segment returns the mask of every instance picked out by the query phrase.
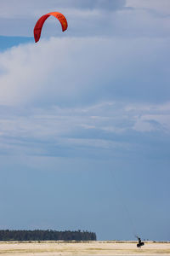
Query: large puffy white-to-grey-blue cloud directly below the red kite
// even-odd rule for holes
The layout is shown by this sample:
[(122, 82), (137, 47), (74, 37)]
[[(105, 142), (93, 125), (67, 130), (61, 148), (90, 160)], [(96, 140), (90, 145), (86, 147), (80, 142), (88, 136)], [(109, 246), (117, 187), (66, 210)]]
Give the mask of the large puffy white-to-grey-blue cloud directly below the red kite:
[(159, 39), (51, 38), (14, 47), (0, 54), (0, 104), (168, 101), (168, 44)]

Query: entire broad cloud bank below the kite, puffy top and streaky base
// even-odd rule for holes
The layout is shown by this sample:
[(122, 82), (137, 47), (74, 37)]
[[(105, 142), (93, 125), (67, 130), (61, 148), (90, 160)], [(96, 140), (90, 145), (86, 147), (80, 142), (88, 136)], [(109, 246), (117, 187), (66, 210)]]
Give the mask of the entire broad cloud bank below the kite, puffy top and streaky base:
[(1, 154), (130, 157), (159, 137), (162, 155), (165, 56), (167, 40), (154, 38), (50, 38), (1, 53)]

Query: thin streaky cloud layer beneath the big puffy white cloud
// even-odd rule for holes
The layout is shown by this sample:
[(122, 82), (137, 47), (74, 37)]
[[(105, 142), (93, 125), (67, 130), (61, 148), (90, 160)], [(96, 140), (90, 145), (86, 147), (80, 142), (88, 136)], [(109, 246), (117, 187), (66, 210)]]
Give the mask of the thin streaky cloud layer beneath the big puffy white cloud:
[[(101, 151), (131, 152), (136, 144), (144, 147), (142, 138), (148, 132), (169, 137), (170, 115), (167, 108), (162, 108), (102, 102), (83, 108), (30, 108), (22, 115), (18, 108), (13, 114), (12, 108), (4, 108), (0, 116), (0, 154), (83, 156)], [(140, 133), (141, 141), (136, 140), (135, 132)]]

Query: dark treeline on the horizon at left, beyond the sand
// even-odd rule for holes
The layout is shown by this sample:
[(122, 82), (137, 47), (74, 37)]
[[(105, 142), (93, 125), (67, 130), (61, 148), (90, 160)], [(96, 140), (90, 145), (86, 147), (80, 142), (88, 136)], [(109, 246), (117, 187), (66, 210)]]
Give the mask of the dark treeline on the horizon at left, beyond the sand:
[(88, 231), (0, 230), (0, 241), (95, 241), (96, 234)]

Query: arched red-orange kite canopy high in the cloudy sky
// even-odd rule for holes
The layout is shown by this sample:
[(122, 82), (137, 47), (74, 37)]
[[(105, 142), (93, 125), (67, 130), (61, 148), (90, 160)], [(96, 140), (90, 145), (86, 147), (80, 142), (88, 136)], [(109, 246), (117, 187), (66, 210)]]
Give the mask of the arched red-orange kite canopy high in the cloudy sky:
[(36, 26), (34, 27), (34, 38), (36, 43), (39, 41), (39, 38), (41, 37), (43, 23), (45, 22), (45, 20), (48, 19), (50, 15), (53, 15), (55, 18), (59, 20), (63, 32), (67, 29), (68, 23), (64, 15), (58, 12), (52, 12), (48, 13), (47, 15), (42, 15), (42, 17), (39, 20), (37, 20)]

